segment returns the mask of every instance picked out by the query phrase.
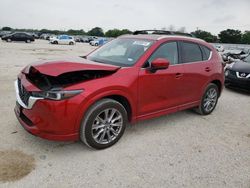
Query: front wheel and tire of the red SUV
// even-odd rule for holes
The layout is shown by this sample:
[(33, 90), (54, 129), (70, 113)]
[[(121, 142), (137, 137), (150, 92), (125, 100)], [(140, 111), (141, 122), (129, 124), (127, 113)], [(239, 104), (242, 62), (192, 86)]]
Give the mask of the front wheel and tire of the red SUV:
[(81, 123), (80, 139), (90, 148), (108, 148), (122, 137), (127, 121), (123, 105), (112, 99), (102, 99), (86, 112)]

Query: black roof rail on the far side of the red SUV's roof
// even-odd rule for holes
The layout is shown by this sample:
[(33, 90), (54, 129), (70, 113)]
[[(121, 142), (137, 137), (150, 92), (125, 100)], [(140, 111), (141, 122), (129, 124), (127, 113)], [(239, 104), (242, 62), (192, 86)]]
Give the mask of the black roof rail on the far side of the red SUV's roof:
[(133, 35), (181, 35), (181, 36), (187, 36), (187, 37), (194, 37), (190, 33), (184, 33), (179, 31), (165, 31), (165, 30), (137, 30), (133, 33)]

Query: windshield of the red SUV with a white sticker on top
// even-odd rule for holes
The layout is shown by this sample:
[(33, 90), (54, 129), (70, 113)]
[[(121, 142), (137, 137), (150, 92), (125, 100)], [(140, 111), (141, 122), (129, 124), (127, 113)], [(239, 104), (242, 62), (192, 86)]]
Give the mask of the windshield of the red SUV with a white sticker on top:
[(87, 59), (116, 66), (133, 66), (153, 44), (150, 40), (115, 39), (87, 56)]

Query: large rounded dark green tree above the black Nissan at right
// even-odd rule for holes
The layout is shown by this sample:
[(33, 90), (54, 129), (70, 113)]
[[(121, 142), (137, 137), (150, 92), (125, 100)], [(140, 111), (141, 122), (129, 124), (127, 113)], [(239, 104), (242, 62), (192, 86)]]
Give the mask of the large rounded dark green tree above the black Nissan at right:
[(239, 44), (241, 43), (242, 33), (240, 30), (227, 29), (221, 31), (218, 36), (223, 43)]

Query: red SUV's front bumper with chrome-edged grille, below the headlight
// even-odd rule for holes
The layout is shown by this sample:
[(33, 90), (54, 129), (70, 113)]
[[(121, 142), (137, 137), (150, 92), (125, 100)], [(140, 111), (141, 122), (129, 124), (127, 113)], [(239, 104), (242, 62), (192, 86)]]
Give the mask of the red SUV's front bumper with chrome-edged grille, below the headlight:
[[(27, 83), (25, 78), (24, 82)], [(75, 141), (79, 139), (76, 131), (78, 106), (76, 98), (53, 101), (44, 98), (23, 96), (24, 86), (15, 81), (16, 117), (29, 133), (48, 140)], [(24, 93), (23, 93), (24, 92)], [(80, 97), (80, 96), (79, 96)]]

